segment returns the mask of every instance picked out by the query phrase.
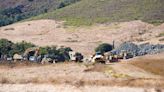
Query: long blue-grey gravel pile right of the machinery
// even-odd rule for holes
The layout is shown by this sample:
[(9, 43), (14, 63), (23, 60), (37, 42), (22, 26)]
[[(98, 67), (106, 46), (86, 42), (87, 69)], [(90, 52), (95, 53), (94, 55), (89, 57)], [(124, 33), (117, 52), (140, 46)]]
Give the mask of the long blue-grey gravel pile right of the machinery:
[(119, 54), (121, 51), (127, 51), (134, 56), (143, 56), (146, 54), (157, 54), (164, 52), (164, 45), (157, 44), (141, 44), (136, 45), (131, 42), (125, 42), (121, 44), (118, 48), (114, 49), (112, 52), (115, 54)]

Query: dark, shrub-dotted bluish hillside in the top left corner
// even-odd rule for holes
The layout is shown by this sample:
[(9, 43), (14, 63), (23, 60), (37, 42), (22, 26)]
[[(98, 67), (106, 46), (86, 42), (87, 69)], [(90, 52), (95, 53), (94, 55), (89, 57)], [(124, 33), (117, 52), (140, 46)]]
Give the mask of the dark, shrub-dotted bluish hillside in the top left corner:
[(63, 8), (79, 0), (0, 0), (0, 26)]

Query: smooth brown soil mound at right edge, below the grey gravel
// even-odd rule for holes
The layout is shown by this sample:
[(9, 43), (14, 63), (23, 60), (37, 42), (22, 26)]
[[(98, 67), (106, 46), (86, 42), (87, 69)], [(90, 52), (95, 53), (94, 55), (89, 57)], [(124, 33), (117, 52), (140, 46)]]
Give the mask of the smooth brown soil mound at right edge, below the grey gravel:
[(164, 54), (161, 55), (148, 55), (145, 57), (139, 57), (131, 62), (132, 65), (144, 69), (147, 72), (151, 72), (156, 75), (164, 77)]

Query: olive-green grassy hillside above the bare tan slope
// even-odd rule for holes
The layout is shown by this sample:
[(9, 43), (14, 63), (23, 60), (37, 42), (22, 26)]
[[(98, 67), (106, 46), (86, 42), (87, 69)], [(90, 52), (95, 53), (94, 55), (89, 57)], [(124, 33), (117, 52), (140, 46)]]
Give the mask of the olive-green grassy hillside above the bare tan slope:
[(82, 0), (32, 19), (66, 20), (68, 25), (90, 25), (116, 21), (164, 22), (164, 0)]

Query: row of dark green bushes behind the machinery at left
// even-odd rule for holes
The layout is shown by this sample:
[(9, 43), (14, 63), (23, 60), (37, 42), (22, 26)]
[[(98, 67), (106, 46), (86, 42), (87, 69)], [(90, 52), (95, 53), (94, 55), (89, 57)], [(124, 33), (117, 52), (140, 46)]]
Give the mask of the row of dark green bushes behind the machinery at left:
[[(20, 43), (13, 43), (7, 39), (0, 39), (0, 56), (4, 57), (13, 57), (14, 54), (23, 55), (26, 49), (36, 47), (36, 45), (32, 43), (27, 43), (22, 41)], [(69, 61), (69, 51), (72, 51), (69, 47), (60, 47), (56, 46), (47, 46), (40, 47), (39, 54), (44, 56), (47, 55), (48, 58), (57, 59), (58, 61)]]

